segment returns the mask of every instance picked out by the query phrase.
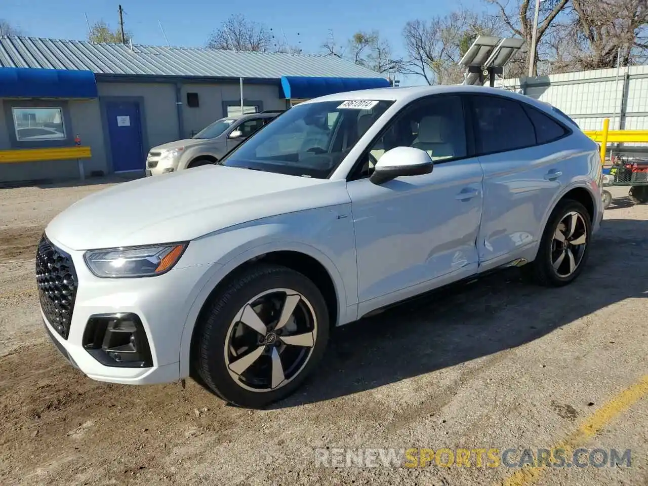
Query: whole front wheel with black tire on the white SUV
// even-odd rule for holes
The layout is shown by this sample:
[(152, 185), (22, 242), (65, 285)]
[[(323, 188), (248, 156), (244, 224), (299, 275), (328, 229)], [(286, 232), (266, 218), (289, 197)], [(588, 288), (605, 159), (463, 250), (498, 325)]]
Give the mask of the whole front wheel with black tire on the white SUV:
[[(294, 311), (278, 329), (288, 299)], [(318, 287), (277, 265), (253, 266), (230, 279), (196, 325), (196, 372), (216, 395), (247, 408), (262, 408), (299, 388), (329, 340), (329, 311)]]

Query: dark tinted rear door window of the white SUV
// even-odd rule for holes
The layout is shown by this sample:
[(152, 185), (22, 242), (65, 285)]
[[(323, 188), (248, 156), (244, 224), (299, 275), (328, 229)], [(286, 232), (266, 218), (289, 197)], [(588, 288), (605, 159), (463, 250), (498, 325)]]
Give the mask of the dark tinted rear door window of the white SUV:
[(480, 154), (506, 152), (536, 145), (535, 128), (522, 105), (503, 97), (472, 97), (477, 148)]

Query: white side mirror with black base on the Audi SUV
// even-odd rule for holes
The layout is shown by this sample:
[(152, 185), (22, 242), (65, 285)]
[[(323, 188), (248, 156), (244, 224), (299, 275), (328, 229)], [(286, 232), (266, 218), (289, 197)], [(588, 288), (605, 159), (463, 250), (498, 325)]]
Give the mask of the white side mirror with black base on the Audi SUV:
[(396, 147), (382, 154), (369, 180), (383, 184), (400, 176), (430, 174), (433, 168), (434, 162), (428, 152), (413, 147)]

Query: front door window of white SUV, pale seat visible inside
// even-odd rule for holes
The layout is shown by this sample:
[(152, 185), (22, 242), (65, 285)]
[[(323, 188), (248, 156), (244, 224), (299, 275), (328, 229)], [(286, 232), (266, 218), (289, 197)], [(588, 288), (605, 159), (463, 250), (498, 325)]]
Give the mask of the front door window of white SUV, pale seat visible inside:
[[(362, 117), (358, 121), (358, 127)], [(385, 152), (395, 147), (420, 148), (434, 161), (467, 155), (463, 103), (458, 96), (435, 96), (414, 102), (397, 115), (365, 156), (361, 177), (368, 177)]]

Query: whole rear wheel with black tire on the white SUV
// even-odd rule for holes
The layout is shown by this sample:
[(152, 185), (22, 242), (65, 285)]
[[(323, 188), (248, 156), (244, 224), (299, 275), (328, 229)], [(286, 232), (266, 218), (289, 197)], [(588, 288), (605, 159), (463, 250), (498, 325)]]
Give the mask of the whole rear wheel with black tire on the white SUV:
[[(573, 237), (567, 237), (566, 240), (572, 238), (573, 241), (578, 242), (584, 235), (584, 244), (581, 245), (562, 243), (555, 239), (559, 225), (566, 233), (569, 233), (569, 228), (565, 226), (564, 220), (570, 216), (572, 220), (573, 214), (577, 214), (577, 225), (573, 232)], [(565, 235), (565, 233), (561, 234)], [(590, 214), (585, 207), (571, 199), (565, 199), (559, 202), (553, 209), (551, 216), (547, 222), (538, 254), (533, 262), (522, 267), (523, 272), (531, 280), (543, 286), (548, 287), (561, 287), (563, 285), (572, 283), (583, 271), (586, 264), (587, 257), (590, 253), (590, 240), (592, 237), (592, 221)], [(564, 245), (569, 251), (561, 250)], [(582, 253), (581, 253), (582, 251)], [(572, 258), (569, 255), (572, 255)], [(562, 259), (561, 256), (563, 255)], [(575, 262), (575, 268), (571, 271), (570, 262)], [(555, 268), (555, 263), (559, 262), (558, 269)]]

